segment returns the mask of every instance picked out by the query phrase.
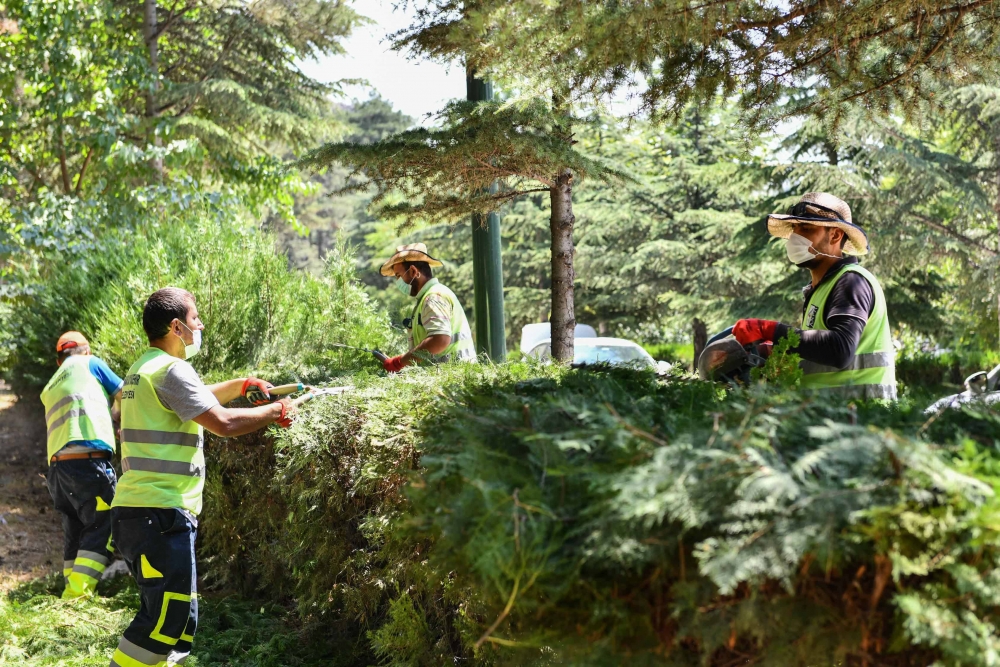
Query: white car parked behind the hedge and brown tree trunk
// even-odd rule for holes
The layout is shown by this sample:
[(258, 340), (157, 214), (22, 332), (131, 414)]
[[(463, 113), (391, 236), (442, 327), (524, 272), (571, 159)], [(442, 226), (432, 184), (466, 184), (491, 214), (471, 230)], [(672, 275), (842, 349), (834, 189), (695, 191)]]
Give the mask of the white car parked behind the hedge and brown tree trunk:
[[(552, 338), (548, 322), (529, 324), (521, 330), (521, 352), (535, 359), (552, 358)], [(544, 336), (544, 337), (542, 337)], [(576, 325), (573, 333), (573, 365), (606, 363), (614, 366), (637, 365), (657, 372), (670, 370), (670, 364), (656, 361), (641, 346), (624, 338), (598, 336), (586, 324)]]

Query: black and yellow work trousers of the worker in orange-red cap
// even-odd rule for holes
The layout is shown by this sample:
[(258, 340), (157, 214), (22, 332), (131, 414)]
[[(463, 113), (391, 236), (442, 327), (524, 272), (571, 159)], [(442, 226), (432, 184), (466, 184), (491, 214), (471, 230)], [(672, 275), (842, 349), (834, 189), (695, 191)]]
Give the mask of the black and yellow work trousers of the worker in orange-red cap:
[(64, 598), (92, 595), (111, 563), (111, 501), (118, 479), (108, 459), (55, 461), (45, 475), (63, 524)]

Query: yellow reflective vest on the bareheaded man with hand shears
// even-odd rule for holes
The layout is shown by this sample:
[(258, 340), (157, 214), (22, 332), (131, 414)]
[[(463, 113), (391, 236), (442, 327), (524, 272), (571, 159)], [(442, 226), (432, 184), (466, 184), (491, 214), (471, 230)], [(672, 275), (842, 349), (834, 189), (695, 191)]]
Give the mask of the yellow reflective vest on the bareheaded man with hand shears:
[(204, 434), (160, 403), (155, 387), (180, 359), (150, 348), (132, 364), (122, 391), (122, 476), (112, 507), (201, 512)]

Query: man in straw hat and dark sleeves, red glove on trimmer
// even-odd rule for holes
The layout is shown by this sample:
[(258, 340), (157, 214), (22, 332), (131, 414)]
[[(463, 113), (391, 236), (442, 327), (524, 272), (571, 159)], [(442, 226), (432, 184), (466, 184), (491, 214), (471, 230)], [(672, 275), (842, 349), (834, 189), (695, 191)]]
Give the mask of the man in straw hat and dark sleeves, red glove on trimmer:
[[(802, 386), (857, 398), (896, 398), (892, 334), (882, 286), (857, 257), (868, 236), (851, 208), (826, 192), (809, 192), (787, 214), (768, 216), (772, 236), (786, 240), (793, 264), (809, 269), (804, 288)], [(733, 335), (743, 345), (780, 340), (792, 327), (771, 320), (740, 320)]]

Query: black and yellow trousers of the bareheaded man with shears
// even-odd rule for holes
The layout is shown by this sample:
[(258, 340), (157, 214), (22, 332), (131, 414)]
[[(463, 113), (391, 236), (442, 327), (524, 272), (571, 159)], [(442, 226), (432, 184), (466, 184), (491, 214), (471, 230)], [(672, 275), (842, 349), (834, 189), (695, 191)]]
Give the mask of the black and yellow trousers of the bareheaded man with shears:
[(182, 663), (198, 626), (196, 524), (179, 510), (115, 507), (115, 548), (139, 584), (139, 613), (118, 641), (111, 667)]

